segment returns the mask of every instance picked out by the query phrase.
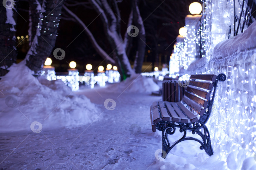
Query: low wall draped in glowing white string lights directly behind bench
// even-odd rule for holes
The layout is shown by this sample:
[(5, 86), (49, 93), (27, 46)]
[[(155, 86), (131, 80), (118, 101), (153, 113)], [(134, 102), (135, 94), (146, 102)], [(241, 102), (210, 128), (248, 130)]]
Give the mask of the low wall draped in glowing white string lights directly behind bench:
[[(250, 27), (248, 29), (253, 25)], [(249, 38), (252, 35), (249, 32), (256, 33), (248, 31), (241, 36), (251, 41), (255, 37)], [(241, 40), (240, 37), (238, 39)], [(227, 162), (229, 169), (253, 169), (250, 167), (256, 166), (256, 48), (250, 48), (252, 46), (247, 43), (250, 50), (244, 50), (241, 44), (233, 44), (239, 49), (229, 55), (234, 49), (224, 51), (226, 45), (232, 46), (225, 43), (228, 41), (239, 42), (237, 39), (222, 42), (215, 48), (222, 51), (214, 51), (216, 56), (198, 68), (196, 73), (226, 74), (227, 80), (218, 83), (213, 110), (207, 122), (213, 149), (220, 155), (219, 159)]]

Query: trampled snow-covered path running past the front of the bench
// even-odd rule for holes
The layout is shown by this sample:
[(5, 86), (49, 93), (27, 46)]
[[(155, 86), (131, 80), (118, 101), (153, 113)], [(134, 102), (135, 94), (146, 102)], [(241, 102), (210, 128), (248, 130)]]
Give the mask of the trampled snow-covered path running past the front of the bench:
[[(1, 133), (0, 167), (152, 169), (154, 153), (162, 148), (162, 142), (160, 136), (155, 138), (152, 133), (149, 106), (161, 97), (143, 93), (120, 95), (103, 89), (80, 93), (102, 110), (94, 122), (72, 129), (43, 129), (41, 133)], [(104, 107), (109, 98), (116, 102), (114, 110)]]

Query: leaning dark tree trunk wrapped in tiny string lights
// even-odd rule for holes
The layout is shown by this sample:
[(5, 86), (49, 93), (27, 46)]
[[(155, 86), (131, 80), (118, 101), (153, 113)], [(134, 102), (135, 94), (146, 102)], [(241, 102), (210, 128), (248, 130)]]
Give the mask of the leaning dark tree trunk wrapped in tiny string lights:
[[(33, 27), (37, 27), (37, 32), (26, 56), (26, 65), (35, 74), (41, 70), (55, 45), (63, 2), (61, 0), (46, 0), (40, 4), (38, 0), (33, 1), (37, 4), (35, 15), (40, 15), (40, 20), (31, 20), (32, 30)], [(33, 6), (34, 4), (30, 5), (31, 12), (34, 10), (32, 9)]]

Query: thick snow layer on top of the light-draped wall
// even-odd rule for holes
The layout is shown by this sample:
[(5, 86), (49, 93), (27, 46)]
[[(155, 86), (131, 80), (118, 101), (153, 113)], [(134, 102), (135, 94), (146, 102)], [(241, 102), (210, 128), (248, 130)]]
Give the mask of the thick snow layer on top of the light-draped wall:
[(253, 22), (242, 34), (218, 43), (213, 49), (212, 56), (226, 57), (254, 47), (256, 47), (256, 22)]

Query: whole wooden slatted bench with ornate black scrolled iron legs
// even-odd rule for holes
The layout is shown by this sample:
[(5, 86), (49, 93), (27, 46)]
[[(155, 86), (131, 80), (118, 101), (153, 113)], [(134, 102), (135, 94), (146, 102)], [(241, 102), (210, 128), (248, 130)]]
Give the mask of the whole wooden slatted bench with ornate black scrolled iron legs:
[[(180, 102), (157, 101), (150, 107), (150, 119), (153, 132), (162, 131), (162, 154), (165, 158), (170, 150), (178, 143), (184, 140), (195, 140), (201, 144), (200, 149), (211, 156), (213, 149), (211, 147), (210, 133), (206, 127), (214, 101), (218, 81), (226, 80), (225, 74), (218, 76), (211, 75), (191, 75), (189, 86), (185, 90), (185, 95)], [(184, 135), (172, 145), (169, 142), (168, 134), (172, 135), (175, 130), (180, 128)], [(201, 131), (204, 131), (202, 133)], [(186, 131), (197, 133), (203, 141), (186, 137)]]

